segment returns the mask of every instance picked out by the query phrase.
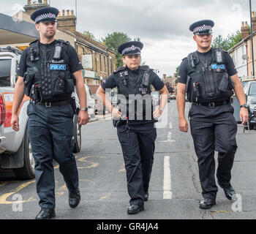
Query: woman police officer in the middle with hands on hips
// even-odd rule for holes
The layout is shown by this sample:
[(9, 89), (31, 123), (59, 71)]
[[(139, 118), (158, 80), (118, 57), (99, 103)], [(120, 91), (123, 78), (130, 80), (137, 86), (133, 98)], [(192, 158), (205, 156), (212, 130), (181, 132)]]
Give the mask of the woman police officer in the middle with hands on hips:
[[(128, 214), (137, 214), (148, 200), (148, 184), (154, 161), (154, 141), (157, 131), (154, 118), (158, 118), (167, 102), (165, 84), (148, 66), (140, 66), (141, 42), (125, 42), (118, 47), (125, 66), (119, 67), (99, 86), (97, 94), (113, 114), (118, 140), (127, 170), (127, 188), (131, 197)], [(151, 85), (159, 91), (159, 109), (152, 108)], [(118, 87), (118, 106), (113, 107), (105, 98), (107, 89)]]

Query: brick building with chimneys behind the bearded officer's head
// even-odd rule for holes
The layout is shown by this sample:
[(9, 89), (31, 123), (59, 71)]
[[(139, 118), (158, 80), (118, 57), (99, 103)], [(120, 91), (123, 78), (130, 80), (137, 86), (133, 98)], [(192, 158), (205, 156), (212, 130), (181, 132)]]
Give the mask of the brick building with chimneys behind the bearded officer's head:
[[(48, 0), (27, 1), (24, 11), (18, 12), (14, 17), (29, 21), (30, 15), (42, 7), (50, 7)], [(83, 64), (83, 78), (85, 83), (100, 84), (116, 69), (116, 53), (100, 42), (86, 37), (76, 31), (76, 16), (74, 10), (59, 10), (56, 39), (64, 39), (78, 52), (79, 59)]]

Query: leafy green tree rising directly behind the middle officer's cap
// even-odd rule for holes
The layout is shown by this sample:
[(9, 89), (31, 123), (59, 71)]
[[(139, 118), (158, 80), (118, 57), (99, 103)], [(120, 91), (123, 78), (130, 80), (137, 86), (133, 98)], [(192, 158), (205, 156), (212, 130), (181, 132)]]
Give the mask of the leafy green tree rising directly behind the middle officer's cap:
[[(139, 38), (137, 38), (139, 39)], [(131, 38), (125, 34), (124, 32), (113, 32), (112, 34), (108, 34), (105, 38), (102, 38), (102, 42), (111, 50), (115, 51), (116, 54), (116, 66), (121, 67), (123, 65), (123, 61), (121, 58), (121, 54), (118, 53), (118, 46), (124, 42), (129, 42)]]

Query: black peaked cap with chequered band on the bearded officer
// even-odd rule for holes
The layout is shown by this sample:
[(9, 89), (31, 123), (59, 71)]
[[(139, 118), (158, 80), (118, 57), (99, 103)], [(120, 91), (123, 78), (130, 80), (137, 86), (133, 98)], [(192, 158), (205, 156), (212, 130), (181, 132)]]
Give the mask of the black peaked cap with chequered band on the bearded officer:
[(57, 8), (43, 7), (31, 14), (31, 20), (33, 20), (34, 23), (57, 21), (56, 18), (58, 15), (59, 10)]

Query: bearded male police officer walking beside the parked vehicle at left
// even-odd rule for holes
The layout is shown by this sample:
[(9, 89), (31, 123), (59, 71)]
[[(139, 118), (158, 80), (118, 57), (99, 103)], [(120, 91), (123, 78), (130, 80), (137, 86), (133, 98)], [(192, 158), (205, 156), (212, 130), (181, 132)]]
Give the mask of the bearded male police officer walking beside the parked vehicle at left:
[(83, 67), (78, 55), (69, 42), (54, 39), (58, 14), (56, 8), (45, 7), (31, 15), (40, 39), (31, 42), (20, 58), (12, 107), (12, 128), (18, 131), (17, 113), (25, 89), (25, 94), (31, 97), (27, 110), (28, 128), (42, 208), (36, 219), (55, 216), (53, 159), (59, 162), (59, 170), (67, 184), (69, 206), (75, 208), (80, 202), (78, 168), (72, 154), (75, 103), (71, 95), (75, 84), (81, 107), (79, 124), (89, 121)]

